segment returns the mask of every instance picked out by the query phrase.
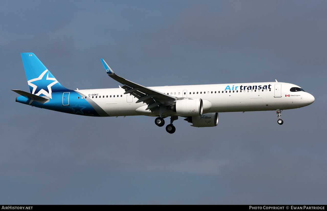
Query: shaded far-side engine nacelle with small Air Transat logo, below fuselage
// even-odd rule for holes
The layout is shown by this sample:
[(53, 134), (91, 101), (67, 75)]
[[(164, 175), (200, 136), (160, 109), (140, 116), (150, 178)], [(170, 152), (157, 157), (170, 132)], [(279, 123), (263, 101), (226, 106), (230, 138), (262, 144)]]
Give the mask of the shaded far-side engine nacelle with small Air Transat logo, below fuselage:
[(193, 127), (215, 127), (218, 125), (218, 113), (202, 114), (201, 116), (188, 116), (184, 119), (193, 123)]

